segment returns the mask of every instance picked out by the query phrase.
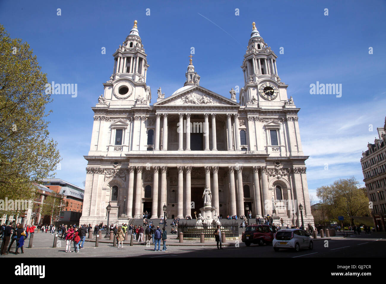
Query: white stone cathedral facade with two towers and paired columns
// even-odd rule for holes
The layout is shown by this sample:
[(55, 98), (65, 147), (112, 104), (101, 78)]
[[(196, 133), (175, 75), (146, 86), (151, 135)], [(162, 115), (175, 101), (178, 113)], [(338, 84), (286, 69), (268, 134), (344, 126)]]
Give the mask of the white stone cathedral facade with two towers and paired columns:
[[(242, 63), (244, 87), (230, 99), (200, 86), (190, 63), (183, 87), (152, 105), (137, 22), (113, 54), (113, 74), (94, 111), (81, 223), (198, 215), (208, 185), (217, 214), (269, 214), (313, 224), (298, 112), (277, 56), (255, 24)], [(241, 74), (241, 72), (240, 72)], [(182, 85), (182, 84), (181, 84)], [(121, 222), (122, 221), (122, 222)]]

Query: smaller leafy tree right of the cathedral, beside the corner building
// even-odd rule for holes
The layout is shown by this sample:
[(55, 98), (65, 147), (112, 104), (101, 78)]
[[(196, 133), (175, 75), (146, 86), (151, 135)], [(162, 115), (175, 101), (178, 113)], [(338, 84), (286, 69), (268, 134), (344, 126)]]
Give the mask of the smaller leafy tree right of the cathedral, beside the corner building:
[[(318, 187), (316, 192), (322, 201), (322, 210), (330, 221), (338, 221), (338, 216), (349, 219), (349, 216), (371, 214), (366, 188), (359, 188), (355, 177), (335, 180), (331, 185)], [(354, 225), (354, 220), (351, 220), (351, 223)]]

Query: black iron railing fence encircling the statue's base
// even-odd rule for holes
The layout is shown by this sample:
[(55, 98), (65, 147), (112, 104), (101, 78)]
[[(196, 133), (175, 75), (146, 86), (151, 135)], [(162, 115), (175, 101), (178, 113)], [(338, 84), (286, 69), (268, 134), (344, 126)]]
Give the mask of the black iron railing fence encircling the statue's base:
[[(200, 238), (201, 233), (204, 233), (205, 238), (214, 238), (216, 229), (216, 225), (178, 224), (178, 233), (182, 232), (184, 238)], [(237, 223), (221, 224), (220, 230), (221, 234), (225, 234), (227, 238), (239, 237), (239, 225)]]

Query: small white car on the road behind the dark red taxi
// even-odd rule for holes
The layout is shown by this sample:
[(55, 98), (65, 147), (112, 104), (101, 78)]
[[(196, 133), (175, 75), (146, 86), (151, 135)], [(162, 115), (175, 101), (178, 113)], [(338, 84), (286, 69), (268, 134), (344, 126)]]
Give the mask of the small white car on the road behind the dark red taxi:
[(279, 248), (291, 248), (298, 252), (301, 248), (313, 249), (313, 242), (305, 231), (300, 229), (283, 229), (276, 232), (272, 241), (275, 252)]

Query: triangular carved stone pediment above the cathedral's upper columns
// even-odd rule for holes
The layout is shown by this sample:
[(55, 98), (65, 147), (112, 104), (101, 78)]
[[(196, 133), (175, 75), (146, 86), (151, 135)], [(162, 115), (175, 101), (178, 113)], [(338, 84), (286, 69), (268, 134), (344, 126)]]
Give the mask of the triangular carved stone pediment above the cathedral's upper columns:
[(157, 105), (231, 105), (239, 106), (233, 100), (222, 95), (216, 94), (201, 86), (191, 86), (181, 88), (181, 91), (175, 92), (168, 98), (154, 103)]

